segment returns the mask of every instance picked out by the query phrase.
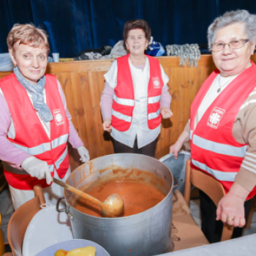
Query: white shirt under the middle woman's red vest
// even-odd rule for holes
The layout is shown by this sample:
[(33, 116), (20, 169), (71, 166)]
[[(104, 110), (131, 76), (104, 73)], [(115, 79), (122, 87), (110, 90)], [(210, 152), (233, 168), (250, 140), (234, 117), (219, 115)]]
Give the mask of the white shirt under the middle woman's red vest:
[[(129, 68), (132, 73), (132, 83), (135, 90), (135, 108), (132, 113), (132, 123), (129, 129), (125, 132), (120, 132), (112, 127), (111, 136), (119, 142), (133, 148), (135, 138), (137, 136), (138, 148), (148, 145), (157, 138), (161, 130), (161, 124), (156, 129), (148, 128), (148, 81), (150, 78), (149, 61), (146, 58), (146, 64), (143, 69), (136, 68), (129, 60)], [(160, 65), (162, 80), (166, 86), (169, 78)], [(117, 61), (113, 61), (107, 74), (104, 75), (105, 80), (112, 89), (117, 85)]]

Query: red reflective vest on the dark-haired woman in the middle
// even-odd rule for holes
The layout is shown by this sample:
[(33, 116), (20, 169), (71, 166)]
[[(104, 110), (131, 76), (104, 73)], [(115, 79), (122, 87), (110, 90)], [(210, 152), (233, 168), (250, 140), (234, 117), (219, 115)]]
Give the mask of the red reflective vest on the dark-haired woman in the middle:
[[(159, 101), (161, 99), (162, 80), (159, 61), (147, 56), (150, 65), (148, 82), (148, 128), (155, 129), (161, 124)], [(125, 132), (132, 124), (132, 112), (135, 107), (135, 91), (132, 82), (132, 73), (129, 68), (129, 54), (117, 60), (117, 85), (113, 95), (112, 126), (120, 132)]]

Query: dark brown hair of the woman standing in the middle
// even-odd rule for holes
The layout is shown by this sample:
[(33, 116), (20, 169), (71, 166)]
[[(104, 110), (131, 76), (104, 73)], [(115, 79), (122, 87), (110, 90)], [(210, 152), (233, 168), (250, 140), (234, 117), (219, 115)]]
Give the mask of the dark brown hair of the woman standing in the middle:
[(127, 23), (124, 24), (124, 32), (123, 32), (123, 38), (124, 38), (124, 48), (127, 49), (125, 42), (127, 42), (127, 37), (129, 34), (129, 31), (132, 29), (142, 29), (145, 33), (145, 37), (150, 42), (151, 37), (151, 28), (148, 26), (148, 23), (146, 20), (128, 20)]

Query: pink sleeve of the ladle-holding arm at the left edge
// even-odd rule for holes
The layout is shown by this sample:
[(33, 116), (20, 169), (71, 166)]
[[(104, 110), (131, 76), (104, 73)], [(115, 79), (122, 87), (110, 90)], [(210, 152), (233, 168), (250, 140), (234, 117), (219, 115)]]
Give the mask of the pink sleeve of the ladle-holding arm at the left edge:
[(10, 140), (7, 139), (11, 118), (7, 102), (2, 94), (0, 94), (0, 109), (0, 159), (7, 162), (12, 167), (21, 170), (21, 163), (31, 155), (19, 148), (16, 148), (14, 145), (12, 145)]

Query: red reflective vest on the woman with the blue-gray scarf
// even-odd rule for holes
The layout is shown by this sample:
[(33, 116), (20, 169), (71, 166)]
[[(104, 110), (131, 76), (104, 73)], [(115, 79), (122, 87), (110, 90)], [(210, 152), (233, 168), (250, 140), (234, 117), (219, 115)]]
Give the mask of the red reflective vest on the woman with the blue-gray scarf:
[[(52, 176), (55, 169), (59, 178), (63, 178), (69, 167), (69, 124), (55, 76), (45, 75), (45, 78), (46, 104), (53, 114), (53, 120), (50, 121), (50, 139), (39, 121), (26, 89), (20, 85), (15, 74), (0, 80), (0, 88), (15, 127), (15, 138), (7, 139), (17, 148), (47, 162)], [(45, 179), (33, 178), (25, 170), (15, 169), (7, 163), (4, 163), (4, 175), (10, 186), (15, 189), (29, 190), (37, 184), (48, 187)]]

